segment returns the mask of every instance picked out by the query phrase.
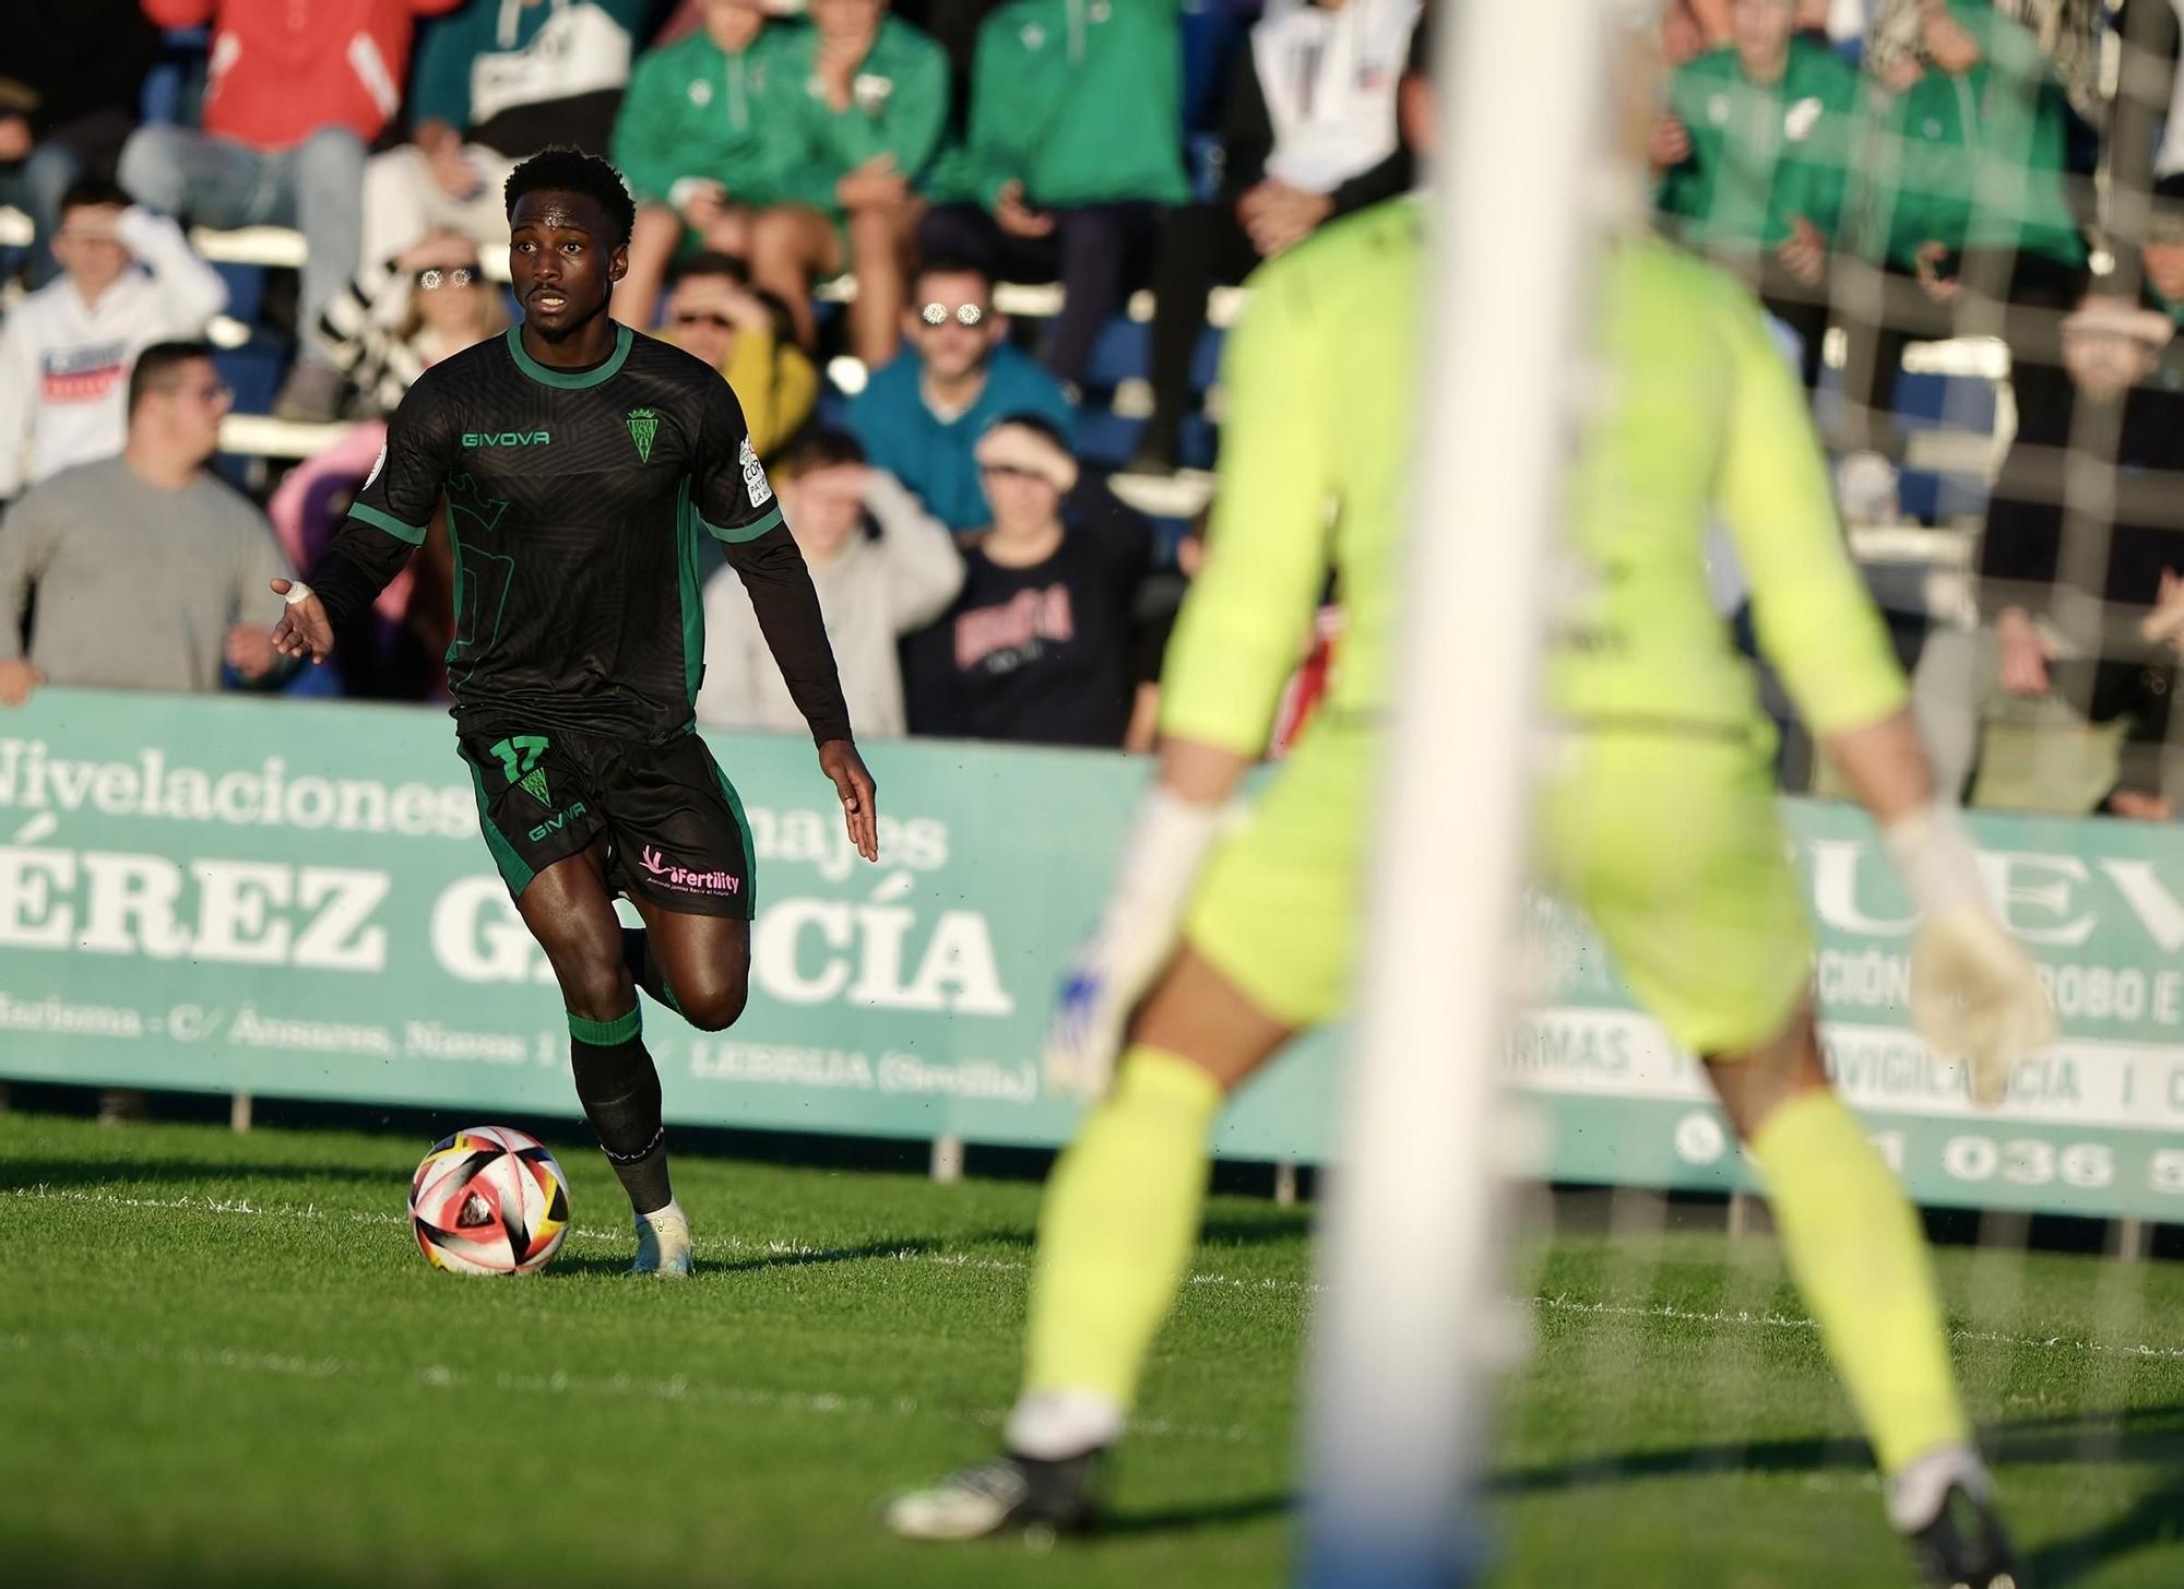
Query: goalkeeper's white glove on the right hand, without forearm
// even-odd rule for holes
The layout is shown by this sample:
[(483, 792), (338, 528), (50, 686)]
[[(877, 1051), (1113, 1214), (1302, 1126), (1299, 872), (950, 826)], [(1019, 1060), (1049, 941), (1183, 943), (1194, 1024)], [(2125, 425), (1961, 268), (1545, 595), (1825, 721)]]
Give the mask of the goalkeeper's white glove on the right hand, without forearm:
[(1911, 1026), (1972, 1072), (1972, 1102), (1994, 1109), (2018, 1061), (2055, 1041), (2031, 956), (1987, 906), (1957, 812), (1935, 803), (1883, 832), (1920, 921), (1911, 941)]

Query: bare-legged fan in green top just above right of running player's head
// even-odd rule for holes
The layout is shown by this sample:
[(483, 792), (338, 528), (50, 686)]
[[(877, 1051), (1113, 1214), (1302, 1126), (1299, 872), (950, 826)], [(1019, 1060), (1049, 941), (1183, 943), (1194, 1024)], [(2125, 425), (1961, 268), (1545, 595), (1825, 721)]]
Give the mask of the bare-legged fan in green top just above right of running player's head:
[(614, 316), (638, 330), (651, 327), (677, 251), (745, 258), (751, 214), (784, 196), (775, 61), (793, 28), (771, 24), (760, 0), (708, 0), (701, 15), (697, 33), (638, 57), (614, 124), (614, 164), (638, 201)]

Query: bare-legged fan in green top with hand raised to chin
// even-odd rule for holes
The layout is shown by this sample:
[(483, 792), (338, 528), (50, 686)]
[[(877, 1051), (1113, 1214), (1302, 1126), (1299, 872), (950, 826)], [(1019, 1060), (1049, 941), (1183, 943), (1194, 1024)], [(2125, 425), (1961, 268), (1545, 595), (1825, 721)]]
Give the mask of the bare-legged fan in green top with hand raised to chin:
[(817, 334), (812, 277), (856, 271), (850, 345), (885, 365), (900, 336), (913, 186), (948, 122), (948, 55), (889, 0), (810, 0), (771, 61), (780, 201), (751, 234), (751, 279)]

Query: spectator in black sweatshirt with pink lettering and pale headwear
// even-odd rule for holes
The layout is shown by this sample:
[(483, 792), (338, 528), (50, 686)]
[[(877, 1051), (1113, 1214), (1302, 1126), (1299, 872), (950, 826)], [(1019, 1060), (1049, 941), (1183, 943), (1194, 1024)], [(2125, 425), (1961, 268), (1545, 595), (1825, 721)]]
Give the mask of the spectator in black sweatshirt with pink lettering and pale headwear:
[(996, 423), (976, 461), (994, 513), (948, 618), (906, 650), (911, 729), (1120, 746), (1153, 526), (1079, 469), (1042, 415)]

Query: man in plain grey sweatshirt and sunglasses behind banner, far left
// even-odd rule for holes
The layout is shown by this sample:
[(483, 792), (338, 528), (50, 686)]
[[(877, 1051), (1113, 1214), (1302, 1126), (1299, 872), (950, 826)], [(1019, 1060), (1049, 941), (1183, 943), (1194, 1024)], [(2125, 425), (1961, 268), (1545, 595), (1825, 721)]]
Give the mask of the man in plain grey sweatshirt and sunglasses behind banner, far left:
[[(295, 578), (258, 509), (205, 465), (234, 393), (203, 343), (153, 343), (118, 458), (63, 469), (0, 526), (0, 705), (41, 683), (218, 690), (273, 679), (271, 578)], [(37, 592), (31, 646), (22, 616)]]

